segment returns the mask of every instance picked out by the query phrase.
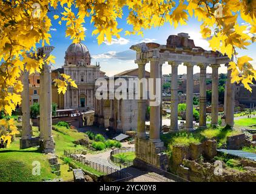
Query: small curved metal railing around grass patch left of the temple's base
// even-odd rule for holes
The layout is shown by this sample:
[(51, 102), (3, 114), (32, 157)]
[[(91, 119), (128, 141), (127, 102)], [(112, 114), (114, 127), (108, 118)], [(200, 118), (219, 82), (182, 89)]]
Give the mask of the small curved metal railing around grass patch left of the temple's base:
[(130, 167), (133, 165), (133, 161), (129, 161), (127, 159), (116, 158), (115, 156), (113, 156), (118, 153), (126, 153), (126, 152), (135, 152), (135, 148), (134, 147), (122, 147), (121, 149), (112, 150), (110, 152), (110, 160), (114, 164), (117, 164), (120, 166), (125, 166), (125, 167)]

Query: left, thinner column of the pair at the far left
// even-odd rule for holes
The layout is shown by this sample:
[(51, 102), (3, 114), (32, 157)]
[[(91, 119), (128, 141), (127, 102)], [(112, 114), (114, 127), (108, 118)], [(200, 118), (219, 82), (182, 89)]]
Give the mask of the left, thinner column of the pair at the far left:
[(30, 126), (30, 106), (29, 106), (29, 72), (24, 69), (22, 74), (23, 91), (22, 96), (22, 139), (32, 138), (32, 127)]

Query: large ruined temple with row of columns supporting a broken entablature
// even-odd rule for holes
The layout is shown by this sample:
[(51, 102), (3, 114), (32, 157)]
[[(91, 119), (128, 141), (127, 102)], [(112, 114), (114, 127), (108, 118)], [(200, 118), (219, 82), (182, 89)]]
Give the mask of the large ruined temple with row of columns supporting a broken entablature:
[[(178, 93), (177, 77), (178, 65), (187, 66), (187, 91), (186, 91), (186, 130), (193, 130), (193, 67), (200, 67), (200, 124), (206, 127), (206, 67), (212, 67), (212, 125), (218, 125), (218, 68), (220, 64), (228, 67), (229, 59), (220, 52), (204, 50), (196, 47), (194, 41), (189, 39), (187, 33), (170, 35), (166, 45), (155, 42), (132, 45), (130, 49), (136, 51), (135, 63), (138, 64), (139, 79), (145, 77), (145, 65), (150, 62), (150, 78), (161, 78), (161, 67), (167, 61), (172, 66), (171, 83), (171, 119), (170, 130), (178, 130)], [(226, 95), (226, 125), (234, 125), (234, 84), (231, 84), (231, 70), (228, 70), (227, 95)], [(158, 85), (159, 86), (159, 85)], [(153, 85), (156, 89), (156, 85)], [(141, 92), (141, 91), (140, 91)], [(166, 169), (167, 157), (163, 152), (164, 144), (160, 140), (161, 117), (160, 105), (150, 106), (150, 133), (145, 130), (145, 100), (138, 101), (138, 127), (135, 138), (134, 164), (140, 166), (149, 163), (153, 166)]]

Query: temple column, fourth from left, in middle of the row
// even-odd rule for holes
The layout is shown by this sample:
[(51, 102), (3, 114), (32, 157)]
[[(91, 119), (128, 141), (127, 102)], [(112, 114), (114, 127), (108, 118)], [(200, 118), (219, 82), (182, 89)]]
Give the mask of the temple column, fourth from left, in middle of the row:
[(194, 93), (194, 77), (193, 67), (194, 65), (186, 62), (187, 66), (187, 85), (186, 85), (186, 130), (192, 130), (193, 127), (193, 93)]

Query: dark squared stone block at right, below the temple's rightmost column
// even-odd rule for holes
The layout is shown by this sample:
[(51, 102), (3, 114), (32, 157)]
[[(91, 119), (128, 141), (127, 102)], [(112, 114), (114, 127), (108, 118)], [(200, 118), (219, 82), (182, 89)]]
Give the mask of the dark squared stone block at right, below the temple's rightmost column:
[(246, 138), (244, 133), (227, 137), (227, 149), (238, 150), (241, 149), (245, 143)]

